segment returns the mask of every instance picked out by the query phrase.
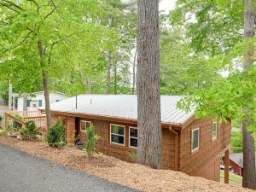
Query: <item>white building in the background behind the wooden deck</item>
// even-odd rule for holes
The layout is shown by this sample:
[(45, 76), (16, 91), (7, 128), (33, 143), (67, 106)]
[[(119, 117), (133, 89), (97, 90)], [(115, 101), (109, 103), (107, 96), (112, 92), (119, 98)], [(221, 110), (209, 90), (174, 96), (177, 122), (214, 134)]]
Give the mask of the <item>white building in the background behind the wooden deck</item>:
[[(66, 96), (64, 93), (50, 91), (49, 92), (49, 103), (60, 102), (64, 99), (67, 99), (69, 96)], [(23, 111), (23, 94), (18, 97), (17, 110)], [(44, 99), (44, 91), (34, 92), (31, 95), (27, 96), (27, 110), (33, 111), (37, 110), (37, 108), (45, 107), (45, 99)]]

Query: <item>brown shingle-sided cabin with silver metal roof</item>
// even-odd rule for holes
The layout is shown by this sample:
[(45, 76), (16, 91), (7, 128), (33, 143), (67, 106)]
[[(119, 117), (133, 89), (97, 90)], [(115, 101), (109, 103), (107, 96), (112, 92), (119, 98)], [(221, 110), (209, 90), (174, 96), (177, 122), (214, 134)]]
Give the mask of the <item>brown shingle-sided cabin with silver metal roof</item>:
[[(193, 112), (176, 108), (182, 98), (160, 97), (163, 166), (219, 181), (224, 154), (229, 168), (230, 122), (195, 119)], [(137, 152), (137, 96), (82, 95), (51, 104), (51, 113), (53, 124), (63, 119), (67, 143), (84, 143), (86, 127), (93, 124), (100, 136), (97, 151), (127, 161)]]

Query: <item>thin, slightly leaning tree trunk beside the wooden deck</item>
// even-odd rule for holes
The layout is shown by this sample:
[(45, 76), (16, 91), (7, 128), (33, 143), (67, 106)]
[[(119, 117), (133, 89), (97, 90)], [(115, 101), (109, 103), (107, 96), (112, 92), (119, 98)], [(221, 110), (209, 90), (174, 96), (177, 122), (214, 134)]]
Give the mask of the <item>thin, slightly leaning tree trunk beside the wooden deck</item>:
[(45, 113), (46, 113), (46, 121), (47, 128), (51, 126), (51, 114), (49, 107), (49, 84), (48, 84), (48, 72), (45, 69), (45, 61), (44, 61), (44, 49), (42, 46), (42, 42), (38, 41), (38, 52), (40, 56), (40, 64), (42, 67), (42, 75), (43, 75), (43, 84), (44, 84), (44, 100), (45, 100)]

